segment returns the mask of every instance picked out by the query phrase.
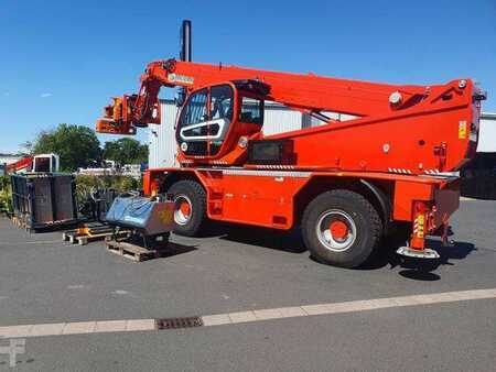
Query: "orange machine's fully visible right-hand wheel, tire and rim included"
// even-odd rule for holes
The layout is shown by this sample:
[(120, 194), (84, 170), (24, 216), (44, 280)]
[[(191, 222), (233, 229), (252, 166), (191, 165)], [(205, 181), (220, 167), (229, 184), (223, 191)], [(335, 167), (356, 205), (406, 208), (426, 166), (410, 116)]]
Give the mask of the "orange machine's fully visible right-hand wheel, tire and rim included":
[(337, 189), (319, 195), (305, 208), (302, 234), (312, 256), (320, 262), (357, 267), (374, 253), (382, 222), (362, 195)]

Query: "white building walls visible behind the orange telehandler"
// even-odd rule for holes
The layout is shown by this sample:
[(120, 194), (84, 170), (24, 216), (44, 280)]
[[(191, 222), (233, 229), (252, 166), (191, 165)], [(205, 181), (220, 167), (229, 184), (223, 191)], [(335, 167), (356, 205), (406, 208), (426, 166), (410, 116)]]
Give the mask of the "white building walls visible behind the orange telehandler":
[[(301, 128), (319, 125), (319, 120), (302, 114), (285, 106), (266, 102), (263, 133), (276, 134), (298, 130)], [(149, 130), (149, 167), (168, 167), (179, 165), (175, 160), (175, 119), (177, 108), (173, 100), (162, 100), (162, 124), (151, 124)], [(338, 113), (326, 113), (339, 119), (351, 120), (354, 117)], [(481, 136), (478, 152), (496, 152), (496, 113), (484, 113), (481, 120)]]

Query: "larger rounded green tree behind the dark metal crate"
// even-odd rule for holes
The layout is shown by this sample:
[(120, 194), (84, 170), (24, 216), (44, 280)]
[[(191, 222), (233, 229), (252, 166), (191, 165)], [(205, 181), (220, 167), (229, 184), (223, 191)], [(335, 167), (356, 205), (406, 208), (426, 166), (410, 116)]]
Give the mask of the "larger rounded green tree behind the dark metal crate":
[(37, 134), (33, 153), (55, 153), (61, 157), (61, 169), (76, 171), (95, 165), (101, 160), (100, 142), (88, 127), (58, 124), (53, 131)]

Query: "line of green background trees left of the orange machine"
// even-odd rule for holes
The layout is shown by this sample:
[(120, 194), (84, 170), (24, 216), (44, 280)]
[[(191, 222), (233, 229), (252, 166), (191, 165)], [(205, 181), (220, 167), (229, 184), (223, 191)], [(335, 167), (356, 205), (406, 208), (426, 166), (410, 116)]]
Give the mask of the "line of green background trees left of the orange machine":
[(61, 158), (61, 171), (74, 172), (79, 167), (97, 167), (104, 160), (118, 165), (148, 162), (148, 146), (139, 141), (121, 138), (101, 145), (95, 131), (85, 125), (58, 124), (51, 131), (40, 132), (33, 142), (22, 146), (28, 154), (55, 153)]

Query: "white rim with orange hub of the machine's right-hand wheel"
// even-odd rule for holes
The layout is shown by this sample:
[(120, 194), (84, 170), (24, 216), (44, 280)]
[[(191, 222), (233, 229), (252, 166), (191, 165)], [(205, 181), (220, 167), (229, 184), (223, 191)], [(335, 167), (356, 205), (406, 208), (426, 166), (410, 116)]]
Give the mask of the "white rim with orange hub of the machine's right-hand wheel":
[(356, 240), (356, 225), (343, 210), (331, 209), (321, 215), (315, 232), (319, 241), (333, 252), (348, 250)]

